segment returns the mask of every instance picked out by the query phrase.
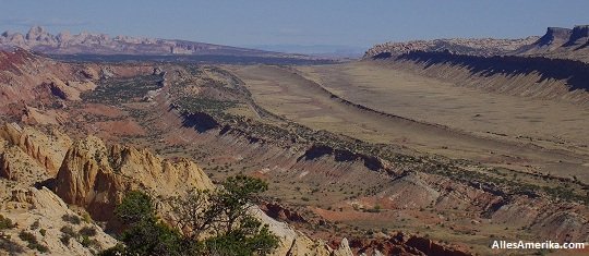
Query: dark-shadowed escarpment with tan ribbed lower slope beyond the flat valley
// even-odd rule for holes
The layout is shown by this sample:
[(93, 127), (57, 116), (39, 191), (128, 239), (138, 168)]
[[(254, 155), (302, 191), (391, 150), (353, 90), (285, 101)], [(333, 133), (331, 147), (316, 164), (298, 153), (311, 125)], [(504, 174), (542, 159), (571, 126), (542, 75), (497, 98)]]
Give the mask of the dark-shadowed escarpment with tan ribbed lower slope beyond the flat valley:
[(528, 56), (479, 57), (450, 52), (412, 51), (375, 59), (461, 86), (518, 97), (589, 103), (589, 65), (580, 61)]

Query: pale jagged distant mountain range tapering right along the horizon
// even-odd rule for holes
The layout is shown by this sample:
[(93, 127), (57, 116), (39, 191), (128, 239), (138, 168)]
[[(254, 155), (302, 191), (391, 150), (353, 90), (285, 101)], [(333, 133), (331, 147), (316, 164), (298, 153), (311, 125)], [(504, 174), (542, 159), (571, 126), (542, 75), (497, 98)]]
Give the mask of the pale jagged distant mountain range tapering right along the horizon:
[(20, 47), (46, 54), (134, 54), (134, 56), (240, 56), (308, 58), (301, 54), (220, 46), (177, 39), (156, 39), (130, 36), (111, 37), (106, 34), (83, 32), (72, 35), (61, 32), (51, 35), (40, 26), (32, 27), (25, 35), (4, 32), (0, 48)]

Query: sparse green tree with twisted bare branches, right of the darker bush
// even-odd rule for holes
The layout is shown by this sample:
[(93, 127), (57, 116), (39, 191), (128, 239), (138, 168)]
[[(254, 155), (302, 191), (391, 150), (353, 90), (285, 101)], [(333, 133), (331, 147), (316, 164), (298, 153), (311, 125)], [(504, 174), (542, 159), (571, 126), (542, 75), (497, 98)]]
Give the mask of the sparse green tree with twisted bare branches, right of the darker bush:
[(267, 188), (260, 179), (237, 175), (213, 192), (189, 192), (175, 200), (177, 227), (192, 241), (202, 241), (191, 247), (205, 254), (266, 255), (278, 239), (251, 215), (251, 208)]

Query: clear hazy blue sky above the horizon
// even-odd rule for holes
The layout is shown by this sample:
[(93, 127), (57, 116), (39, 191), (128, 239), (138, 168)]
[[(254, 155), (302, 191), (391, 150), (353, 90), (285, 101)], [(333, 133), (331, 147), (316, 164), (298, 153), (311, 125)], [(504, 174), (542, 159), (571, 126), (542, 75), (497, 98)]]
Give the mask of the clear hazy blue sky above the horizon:
[(189, 39), (223, 45), (346, 45), (541, 35), (589, 24), (589, 0), (59, 1), (0, 0), (0, 31)]

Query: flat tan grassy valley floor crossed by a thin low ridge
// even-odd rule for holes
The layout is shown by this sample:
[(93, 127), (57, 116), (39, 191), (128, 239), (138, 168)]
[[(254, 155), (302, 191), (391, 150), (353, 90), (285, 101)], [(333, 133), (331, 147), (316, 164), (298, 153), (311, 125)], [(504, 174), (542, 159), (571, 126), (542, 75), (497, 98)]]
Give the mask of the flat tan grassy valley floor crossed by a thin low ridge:
[(233, 70), (261, 106), (313, 129), (589, 182), (582, 106), (485, 93), (370, 62)]

